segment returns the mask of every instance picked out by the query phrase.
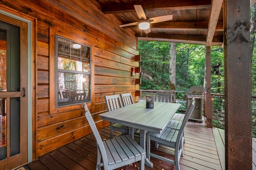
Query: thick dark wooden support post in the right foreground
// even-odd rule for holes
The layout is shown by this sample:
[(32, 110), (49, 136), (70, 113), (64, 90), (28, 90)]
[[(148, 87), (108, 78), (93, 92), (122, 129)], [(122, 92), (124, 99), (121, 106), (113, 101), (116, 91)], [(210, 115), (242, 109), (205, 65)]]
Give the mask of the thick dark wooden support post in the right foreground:
[(250, 0), (224, 0), (225, 169), (252, 169)]

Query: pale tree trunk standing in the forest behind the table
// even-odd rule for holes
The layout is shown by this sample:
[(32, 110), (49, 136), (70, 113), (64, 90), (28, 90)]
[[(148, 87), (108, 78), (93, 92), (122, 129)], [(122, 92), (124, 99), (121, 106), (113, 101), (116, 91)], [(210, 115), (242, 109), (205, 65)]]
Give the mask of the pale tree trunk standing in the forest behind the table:
[[(170, 57), (169, 57), (169, 88), (170, 90), (176, 90), (176, 44), (170, 42)], [(175, 93), (174, 93), (175, 94)], [(173, 94), (173, 103), (176, 103), (175, 95)]]

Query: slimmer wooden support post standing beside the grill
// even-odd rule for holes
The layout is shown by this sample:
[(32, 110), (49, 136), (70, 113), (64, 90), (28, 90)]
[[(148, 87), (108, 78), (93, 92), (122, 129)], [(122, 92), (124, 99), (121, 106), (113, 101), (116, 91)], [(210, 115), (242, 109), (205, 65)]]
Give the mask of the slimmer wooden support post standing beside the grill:
[(207, 128), (213, 127), (213, 112), (212, 112), (212, 95), (211, 95), (211, 46), (206, 46), (205, 53), (205, 67), (206, 67), (206, 95), (205, 95), (205, 114)]

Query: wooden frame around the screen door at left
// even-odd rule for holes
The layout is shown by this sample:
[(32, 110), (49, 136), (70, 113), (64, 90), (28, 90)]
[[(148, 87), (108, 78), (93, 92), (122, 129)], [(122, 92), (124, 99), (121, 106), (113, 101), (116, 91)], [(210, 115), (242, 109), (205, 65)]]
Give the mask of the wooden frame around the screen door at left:
[[(35, 31), (35, 25), (36, 25), (36, 19), (31, 18), (30, 16), (26, 16), (26, 18), (23, 18), (22, 16), (17, 15), (13, 13), (11, 10), (6, 10), (6, 7), (0, 6), (0, 14), (9, 16), (10, 18), (19, 20), (21, 22), (27, 23), (28, 25), (28, 37), (27, 37), (27, 46), (28, 46), (28, 89), (27, 89), (27, 99), (28, 99), (28, 112), (27, 112), (27, 122), (28, 122), (28, 131), (27, 131), (27, 148), (28, 148), (28, 162), (32, 162), (33, 159), (36, 158), (36, 154), (33, 155), (33, 148), (35, 148), (35, 143), (33, 143), (33, 137), (35, 135), (33, 134), (33, 131), (35, 131), (35, 54), (36, 54), (36, 48), (35, 48), (35, 42), (36, 42), (36, 31)], [(36, 140), (34, 139), (34, 142)]]

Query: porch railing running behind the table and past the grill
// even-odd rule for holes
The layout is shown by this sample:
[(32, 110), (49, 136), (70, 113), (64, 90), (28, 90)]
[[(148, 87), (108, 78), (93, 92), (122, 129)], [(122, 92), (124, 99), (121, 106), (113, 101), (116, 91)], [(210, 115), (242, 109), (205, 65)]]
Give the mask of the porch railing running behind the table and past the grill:
[[(156, 96), (156, 92), (173, 92), (175, 95), (176, 103), (181, 103), (181, 107), (179, 108), (179, 113), (185, 113), (187, 108), (187, 99), (183, 98), (185, 94), (184, 91), (160, 91), (160, 90), (141, 90), (140, 100), (145, 100), (146, 96)], [(212, 94), (213, 98), (213, 126), (215, 128), (224, 129), (225, 126), (225, 99), (224, 94)], [(252, 130), (253, 130), (253, 138), (256, 137), (256, 96), (251, 97), (252, 103)], [(204, 102), (203, 102), (204, 104)], [(204, 109), (204, 107), (203, 107)], [(204, 110), (203, 110), (204, 113)]]

